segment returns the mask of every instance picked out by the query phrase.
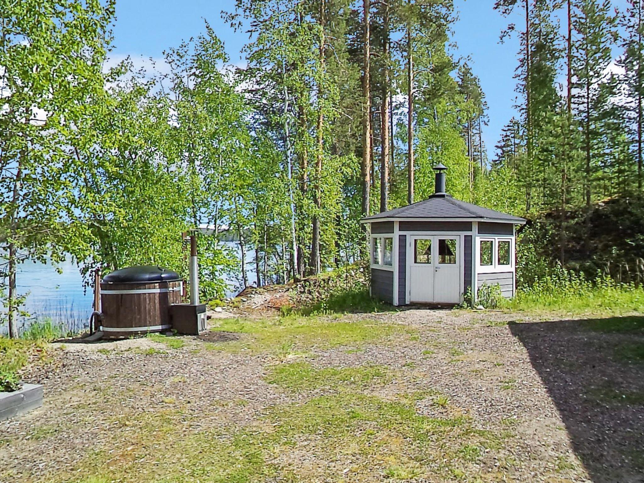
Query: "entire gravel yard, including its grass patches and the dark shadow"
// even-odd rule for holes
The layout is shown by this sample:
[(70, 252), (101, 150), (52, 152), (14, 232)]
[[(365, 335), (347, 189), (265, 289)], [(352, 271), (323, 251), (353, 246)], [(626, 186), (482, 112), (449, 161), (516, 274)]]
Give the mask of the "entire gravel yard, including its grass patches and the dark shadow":
[(43, 408), (0, 422), (0, 482), (644, 482), (644, 317), (556, 318), (53, 344), (24, 374)]

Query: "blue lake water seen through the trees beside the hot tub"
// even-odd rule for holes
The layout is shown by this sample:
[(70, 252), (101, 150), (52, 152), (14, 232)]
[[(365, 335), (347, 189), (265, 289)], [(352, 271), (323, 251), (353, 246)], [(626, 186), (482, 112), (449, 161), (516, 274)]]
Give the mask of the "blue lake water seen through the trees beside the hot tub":
[[(241, 257), (239, 244), (225, 242), (236, 250)], [(248, 254), (251, 255), (252, 254)], [(247, 256), (248, 256), (247, 255)], [(249, 267), (248, 277), (252, 283), (255, 280), (254, 264)], [(24, 310), (30, 317), (19, 321), (19, 328), (28, 327), (34, 319), (50, 318), (57, 323), (64, 323), (69, 330), (78, 331), (88, 327), (88, 319), (93, 310), (93, 287), (83, 287), (81, 272), (77, 265), (65, 261), (59, 265), (62, 273), (58, 273), (46, 263), (27, 261), (19, 265), (16, 275), (16, 285), (19, 294), (29, 293)], [(228, 283), (226, 296), (235, 296), (242, 285), (242, 274), (225, 277)], [(0, 325), (0, 334), (6, 334), (6, 325)]]

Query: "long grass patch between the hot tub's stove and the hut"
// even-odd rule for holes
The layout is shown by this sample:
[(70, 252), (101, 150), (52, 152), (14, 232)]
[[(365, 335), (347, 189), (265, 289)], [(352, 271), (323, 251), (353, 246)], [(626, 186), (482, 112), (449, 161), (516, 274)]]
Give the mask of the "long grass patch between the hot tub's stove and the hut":
[(378, 321), (343, 322), (328, 317), (289, 316), (274, 319), (223, 319), (212, 330), (248, 334), (243, 340), (216, 343), (213, 350), (290, 354), (310, 348), (360, 346), (408, 332), (401, 325)]

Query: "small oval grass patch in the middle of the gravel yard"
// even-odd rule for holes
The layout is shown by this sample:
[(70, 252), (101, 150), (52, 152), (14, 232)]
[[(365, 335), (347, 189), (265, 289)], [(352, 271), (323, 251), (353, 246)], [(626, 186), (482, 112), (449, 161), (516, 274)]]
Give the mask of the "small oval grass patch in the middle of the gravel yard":
[(366, 387), (390, 380), (383, 366), (359, 366), (347, 368), (316, 369), (306, 362), (272, 366), (265, 381), (292, 391), (307, 391), (316, 388), (339, 388), (341, 386)]

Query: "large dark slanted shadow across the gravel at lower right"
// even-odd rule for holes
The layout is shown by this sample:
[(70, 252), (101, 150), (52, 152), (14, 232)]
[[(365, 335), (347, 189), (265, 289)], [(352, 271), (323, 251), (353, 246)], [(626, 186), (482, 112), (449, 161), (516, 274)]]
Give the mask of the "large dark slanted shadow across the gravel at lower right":
[(644, 317), (509, 328), (526, 346), (591, 480), (644, 482)]

